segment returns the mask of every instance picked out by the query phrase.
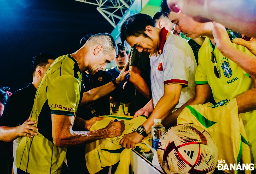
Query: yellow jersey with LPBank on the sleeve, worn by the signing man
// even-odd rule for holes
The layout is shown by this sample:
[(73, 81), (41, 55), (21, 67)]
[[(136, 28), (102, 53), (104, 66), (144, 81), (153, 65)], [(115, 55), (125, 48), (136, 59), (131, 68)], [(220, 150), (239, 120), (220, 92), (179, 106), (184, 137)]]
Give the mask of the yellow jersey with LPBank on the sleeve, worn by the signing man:
[(60, 173), (66, 147), (56, 147), (52, 137), (51, 114), (75, 116), (79, 104), (81, 74), (70, 55), (58, 57), (40, 82), (31, 120), (38, 135), (22, 137), (16, 153), (16, 166), (28, 173)]

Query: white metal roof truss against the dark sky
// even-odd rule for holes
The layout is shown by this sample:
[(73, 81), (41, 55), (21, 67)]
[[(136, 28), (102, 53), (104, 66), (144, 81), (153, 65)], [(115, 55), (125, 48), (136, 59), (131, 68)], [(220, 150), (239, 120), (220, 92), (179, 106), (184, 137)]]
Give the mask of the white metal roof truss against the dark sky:
[(96, 8), (115, 28), (135, 0), (75, 0), (97, 5)]

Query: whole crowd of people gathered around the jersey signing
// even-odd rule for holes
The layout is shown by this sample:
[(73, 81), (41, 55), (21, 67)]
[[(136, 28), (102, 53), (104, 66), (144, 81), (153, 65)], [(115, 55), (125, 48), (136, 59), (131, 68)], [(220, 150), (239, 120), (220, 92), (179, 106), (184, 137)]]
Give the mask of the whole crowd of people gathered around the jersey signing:
[[(181, 123), (204, 127), (219, 137), (219, 157), (255, 166), (256, 40), (245, 30), (242, 38), (230, 39), (222, 24), (206, 20), (205, 11), (199, 21), (183, 12), (186, 1), (175, 3), (162, 0), (153, 18), (128, 16), (120, 27), (122, 43), (108, 33), (88, 34), (72, 54), (35, 55), (26, 88), (13, 94), (1, 88), (0, 173), (88, 173), (85, 145), (125, 129), (123, 120), (112, 120), (89, 131), (102, 115), (148, 117), (121, 138), (123, 148), (135, 148), (160, 118), (166, 129)], [(117, 66), (105, 71), (113, 60)], [(207, 121), (217, 124), (212, 128)], [(223, 135), (227, 128), (237, 130), (238, 138)], [(108, 172), (103, 167), (98, 173)]]

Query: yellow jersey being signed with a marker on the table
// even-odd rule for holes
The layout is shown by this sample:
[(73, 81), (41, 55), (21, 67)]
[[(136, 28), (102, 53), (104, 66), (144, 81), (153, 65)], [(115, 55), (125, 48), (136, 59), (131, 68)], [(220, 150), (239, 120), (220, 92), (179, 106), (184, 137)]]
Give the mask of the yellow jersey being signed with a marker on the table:
[[(90, 174), (97, 173), (102, 170), (102, 167), (111, 166), (120, 161), (117, 174), (128, 174), (130, 165), (130, 151), (131, 149), (125, 149), (119, 144), (120, 140), (125, 134), (129, 134), (137, 130), (137, 127), (142, 125), (146, 121), (147, 117), (144, 115), (132, 119), (132, 116), (115, 116), (105, 115), (103, 120), (97, 121), (90, 129), (90, 131), (104, 128), (111, 120), (118, 119), (125, 121), (125, 130), (121, 136), (114, 138), (105, 138), (89, 143), (85, 148), (85, 160), (86, 166)], [(144, 141), (151, 146), (151, 135), (144, 138)], [(136, 147), (148, 152), (150, 149), (144, 143), (136, 144)]]

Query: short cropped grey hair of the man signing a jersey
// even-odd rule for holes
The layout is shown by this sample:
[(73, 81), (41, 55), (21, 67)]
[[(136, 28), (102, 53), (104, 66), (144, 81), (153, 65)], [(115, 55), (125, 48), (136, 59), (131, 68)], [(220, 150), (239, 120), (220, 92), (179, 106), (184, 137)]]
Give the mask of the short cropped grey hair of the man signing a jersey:
[(117, 44), (115, 43), (114, 38), (108, 33), (98, 33), (91, 36), (87, 42), (92, 42), (93, 44), (103, 46), (103, 54), (111, 55), (115, 51), (117, 56), (118, 49)]

